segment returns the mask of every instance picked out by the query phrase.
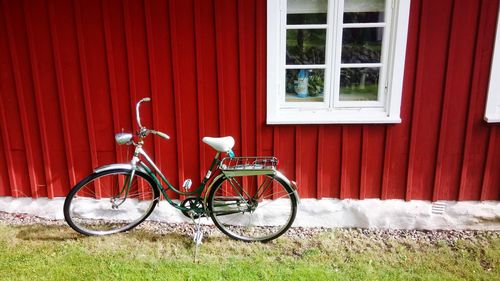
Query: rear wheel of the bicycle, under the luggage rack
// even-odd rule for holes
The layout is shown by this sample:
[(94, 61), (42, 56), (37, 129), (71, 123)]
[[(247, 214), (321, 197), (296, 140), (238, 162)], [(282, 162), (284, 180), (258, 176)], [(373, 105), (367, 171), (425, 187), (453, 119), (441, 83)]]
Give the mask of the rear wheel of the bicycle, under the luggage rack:
[(292, 225), (297, 197), (276, 175), (221, 178), (208, 197), (214, 224), (233, 239), (246, 242), (273, 240)]

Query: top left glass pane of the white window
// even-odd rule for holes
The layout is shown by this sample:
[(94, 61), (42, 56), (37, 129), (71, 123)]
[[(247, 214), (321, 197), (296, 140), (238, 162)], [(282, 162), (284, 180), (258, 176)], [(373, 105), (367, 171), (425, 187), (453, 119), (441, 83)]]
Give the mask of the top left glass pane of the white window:
[(327, 0), (288, 0), (287, 24), (326, 24)]

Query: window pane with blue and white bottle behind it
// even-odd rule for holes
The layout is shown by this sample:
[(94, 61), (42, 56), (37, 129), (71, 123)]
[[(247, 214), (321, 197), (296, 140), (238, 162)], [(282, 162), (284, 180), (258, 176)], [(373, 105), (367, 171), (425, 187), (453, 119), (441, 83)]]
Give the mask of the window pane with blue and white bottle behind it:
[(322, 102), (324, 100), (324, 69), (287, 69), (287, 102)]

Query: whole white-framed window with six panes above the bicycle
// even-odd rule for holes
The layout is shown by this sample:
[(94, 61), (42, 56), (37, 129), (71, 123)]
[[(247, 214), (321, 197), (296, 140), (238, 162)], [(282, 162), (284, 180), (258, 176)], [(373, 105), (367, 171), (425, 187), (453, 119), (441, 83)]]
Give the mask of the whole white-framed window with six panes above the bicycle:
[(268, 1), (267, 122), (401, 122), (409, 2)]

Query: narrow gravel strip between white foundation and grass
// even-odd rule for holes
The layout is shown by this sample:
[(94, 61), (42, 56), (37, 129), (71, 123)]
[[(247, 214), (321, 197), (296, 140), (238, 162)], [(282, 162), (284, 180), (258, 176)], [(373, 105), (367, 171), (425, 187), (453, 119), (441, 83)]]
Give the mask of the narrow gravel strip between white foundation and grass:
[[(206, 220), (202, 219), (202, 222)], [(41, 218), (29, 214), (6, 213), (0, 211), (0, 223), (7, 225), (66, 225), (64, 220), (54, 220)], [(151, 231), (155, 234), (176, 233), (185, 236), (191, 236), (194, 232), (192, 223), (166, 223), (157, 221), (145, 221), (137, 229)], [(209, 236), (223, 236), (214, 225), (204, 225), (203, 231)], [(331, 231), (330, 228), (306, 228), (292, 227), (285, 236), (291, 238), (311, 238), (322, 233)], [(339, 239), (353, 240), (356, 238), (369, 238), (375, 243), (387, 243), (388, 240), (398, 242), (415, 242), (416, 244), (447, 244), (454, 246), (457, 241), (465, 240), (473, 243), (488, 244), (491, 239), (499, 239), (500, 231), (480, 231), (480, 230), (406, 230), (406, 229), (361, 229), (361, 228), (337, 228), (335, 235)]]

